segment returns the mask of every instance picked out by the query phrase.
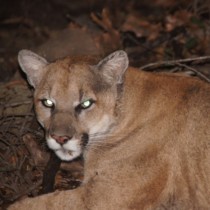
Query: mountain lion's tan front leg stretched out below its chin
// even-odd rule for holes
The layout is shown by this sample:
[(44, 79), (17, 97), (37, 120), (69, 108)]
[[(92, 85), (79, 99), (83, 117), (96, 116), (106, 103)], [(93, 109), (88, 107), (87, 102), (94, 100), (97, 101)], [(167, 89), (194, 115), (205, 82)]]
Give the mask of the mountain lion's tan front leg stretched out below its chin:
[(84, 210), (83, 187), (17, 201), (8, 210)]

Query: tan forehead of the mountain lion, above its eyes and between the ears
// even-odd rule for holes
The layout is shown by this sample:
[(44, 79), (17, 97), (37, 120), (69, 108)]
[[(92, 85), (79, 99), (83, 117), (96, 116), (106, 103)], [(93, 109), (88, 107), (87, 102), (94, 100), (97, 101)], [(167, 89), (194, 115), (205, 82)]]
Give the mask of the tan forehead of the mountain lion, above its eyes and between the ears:
[(54, 97), (78, 98), (81, 92), (97, 89), (96, 72), (85, 62), (57, 61), (48, 65), (41, 88)]

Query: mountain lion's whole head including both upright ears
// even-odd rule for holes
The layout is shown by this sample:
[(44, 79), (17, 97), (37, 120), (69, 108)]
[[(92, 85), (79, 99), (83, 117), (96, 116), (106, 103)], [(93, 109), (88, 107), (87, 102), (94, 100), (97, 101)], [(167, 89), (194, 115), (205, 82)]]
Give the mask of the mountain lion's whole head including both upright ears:
[(88, 144), (111, 132), (119, 86), (128, 66), (124, 52), (117, 51), (91, 66), (70, 58), (48, 64), (23, 50), (19, 62), (35, 88), (35, 110), (47, 144), (58, 157), (72, 160)]

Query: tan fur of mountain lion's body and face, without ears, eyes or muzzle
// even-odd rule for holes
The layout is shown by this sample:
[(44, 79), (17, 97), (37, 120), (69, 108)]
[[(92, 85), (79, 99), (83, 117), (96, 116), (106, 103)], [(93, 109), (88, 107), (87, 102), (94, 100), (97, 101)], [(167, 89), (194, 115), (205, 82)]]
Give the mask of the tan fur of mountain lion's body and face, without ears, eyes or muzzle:
[[(76, 71), (67, 71), (69, 66)], [(129, 67), (117, 95), (113, 87), (97, 90), (96, 75), (81, 60), (79, 64), (61, 60), (46, 68), (48, 76), (35, 87), (39, 119), (46, 118), (43, 107), (37, 105), (45, 91), (50, 89), (51, 97), (60, 101), (59, 109), (72, 112), (82, 85), (97, 102), (81, 119), (70, 115), (65, 120), (78, 132), (88, 132), (87, 124), (93, 126), (104, 113), (112, 123), (104, 135), (92, 143), (90, 139), (83, 151), (81, 187), (18, 201), (10, 210), (210, 209), (208, 84)]]

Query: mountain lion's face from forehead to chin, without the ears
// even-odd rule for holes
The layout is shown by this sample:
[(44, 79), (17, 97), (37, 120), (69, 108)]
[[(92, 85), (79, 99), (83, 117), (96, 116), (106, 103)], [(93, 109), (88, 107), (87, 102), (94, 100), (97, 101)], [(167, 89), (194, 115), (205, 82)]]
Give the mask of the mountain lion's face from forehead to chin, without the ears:
[(108, 132), (116, 95), (87, 65), (51, 64), (48, 69), (35, 93), (37, 117), (49, 147), (61, 159), (71, 160), (91, 136)]

